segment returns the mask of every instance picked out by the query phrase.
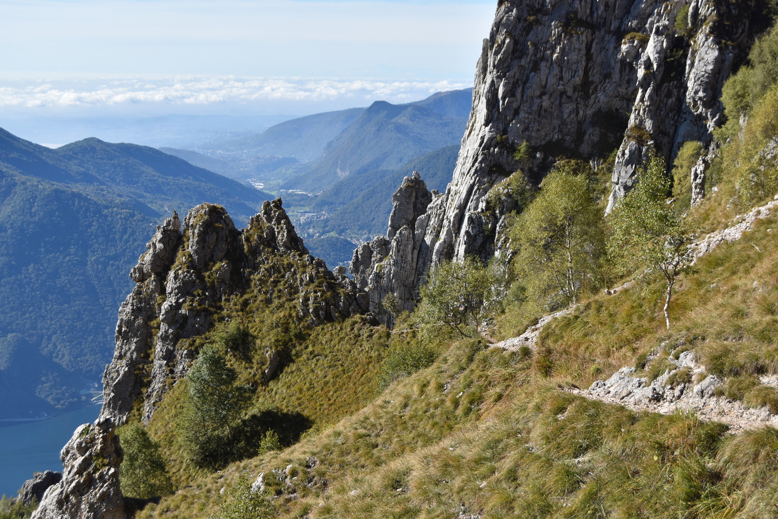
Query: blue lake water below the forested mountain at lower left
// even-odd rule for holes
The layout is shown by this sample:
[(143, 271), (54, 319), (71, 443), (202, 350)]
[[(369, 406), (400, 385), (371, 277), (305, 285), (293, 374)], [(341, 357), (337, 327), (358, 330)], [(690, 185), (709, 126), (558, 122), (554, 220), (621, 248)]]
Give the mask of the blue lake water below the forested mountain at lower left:
[(33, 472), (62, 472), (59, 452), (82, 423), (96, 420), (100, 406), (87, 406), (35, 422), (0, 422), (0, 495), (16, 496)]

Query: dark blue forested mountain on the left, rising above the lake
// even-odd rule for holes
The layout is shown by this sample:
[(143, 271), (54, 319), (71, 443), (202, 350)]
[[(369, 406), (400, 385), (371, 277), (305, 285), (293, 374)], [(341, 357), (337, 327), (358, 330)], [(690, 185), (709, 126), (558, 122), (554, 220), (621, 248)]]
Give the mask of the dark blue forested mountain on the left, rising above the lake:
[(50, 149), (0, 129), (0, 419), (89, 396), (129, 269), (163, 217), (209, 201), (240, 225), (270, 197), (154, 148)]

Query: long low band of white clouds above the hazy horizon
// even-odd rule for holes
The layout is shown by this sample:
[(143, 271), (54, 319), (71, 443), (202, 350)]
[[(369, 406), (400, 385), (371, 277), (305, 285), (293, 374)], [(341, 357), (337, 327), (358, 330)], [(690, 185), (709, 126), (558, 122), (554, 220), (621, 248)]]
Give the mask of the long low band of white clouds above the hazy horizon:
[[(0, 108), (188, 105), (268, 102), (327, 103), (352, 106), (384, 99), (404, 103), (434, 92), (464, 89), (464, 82), (337, 80), (305, 78), (101, 78), (88, 81), (34, 82), (0, 86)], [(69, 83), (69, 84), (68, 84)]]

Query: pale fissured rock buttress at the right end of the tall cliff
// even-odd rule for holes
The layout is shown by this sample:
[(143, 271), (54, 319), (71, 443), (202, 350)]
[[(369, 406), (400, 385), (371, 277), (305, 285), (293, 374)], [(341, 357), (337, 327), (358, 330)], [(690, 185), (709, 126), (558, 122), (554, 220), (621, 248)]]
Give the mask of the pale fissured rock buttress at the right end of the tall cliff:
[[(629, 130), (616, 156), (608, 211), (633, 185), (636, 169), (651, 148), (671, 163), (685, 141), (701, 141), (708, 146), (713, 128), (724, 123), (721, 88), (752, 41), (748, 7), (692, 0), (687, 24), (695, 33), (687, 41), (675, 28), (683, 5), (686, 2), (662, 4), (644, 26), (650, 37), (640, 57), (633, 61), (637, 92)], [(724, 23), (724, 19), (741, 23)], [(704, 186), (704, 176), (697, 180), (696, 193), (701, 197), (704, 188), (699, 187)]]

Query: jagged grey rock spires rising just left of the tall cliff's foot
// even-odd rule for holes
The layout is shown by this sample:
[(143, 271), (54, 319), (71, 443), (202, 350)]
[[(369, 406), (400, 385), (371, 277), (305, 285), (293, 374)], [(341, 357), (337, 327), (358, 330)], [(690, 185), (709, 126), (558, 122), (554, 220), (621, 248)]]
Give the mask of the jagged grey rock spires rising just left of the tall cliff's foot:
[(418, 256), (426, 253), (422, 246), (426, 211), (440, 197), (437, 191), (427, 190), (419, 172), (406, 176), (392, 196), (387, 235), (377, 236), (354, 251), (350, 270), (356, 288), (367, 294), (367, 300), (359, 302), (383, 324), (391, 325), (394, 315), (415, 305), (423, 275), (417, 270)]

